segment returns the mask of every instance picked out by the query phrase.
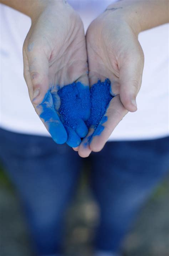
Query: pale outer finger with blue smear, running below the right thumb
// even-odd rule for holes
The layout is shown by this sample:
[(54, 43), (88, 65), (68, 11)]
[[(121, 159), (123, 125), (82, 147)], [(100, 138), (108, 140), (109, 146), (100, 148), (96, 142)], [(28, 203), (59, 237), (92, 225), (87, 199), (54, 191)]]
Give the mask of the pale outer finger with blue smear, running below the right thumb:
[(93, 133), (90, 143), (90, 149), (92, 151), (98, 152), (102, 150), (109, 136), (112, 134), (112, 131), (127, 114), (127, 112), (128, 111), (126, 108), (124, 108), (119, 95), (111, 100), (105, 115)]

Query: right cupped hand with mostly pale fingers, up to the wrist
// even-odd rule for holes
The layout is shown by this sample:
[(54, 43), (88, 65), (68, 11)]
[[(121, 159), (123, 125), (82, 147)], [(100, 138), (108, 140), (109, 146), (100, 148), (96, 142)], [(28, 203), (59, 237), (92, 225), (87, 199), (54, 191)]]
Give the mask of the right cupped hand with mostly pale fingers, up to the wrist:
[(89, 83), (92, 86), (98, 79), (109, 78), (110, 93), (115, 97), (105, 113), (107, 121), (101, 121), (104, 128), (101, 134), (93, 134), (91, 126), (87, 137), (75, 149), (82, 157), (87, 157), (91, 151), (100, 151), (127, 112), (137, 110), (136, 96), (142, 82), (144, 54), (138, 41), (139, 31), (131, 26), (125, 10), (119, 5), (109, 6), (87, 30)]

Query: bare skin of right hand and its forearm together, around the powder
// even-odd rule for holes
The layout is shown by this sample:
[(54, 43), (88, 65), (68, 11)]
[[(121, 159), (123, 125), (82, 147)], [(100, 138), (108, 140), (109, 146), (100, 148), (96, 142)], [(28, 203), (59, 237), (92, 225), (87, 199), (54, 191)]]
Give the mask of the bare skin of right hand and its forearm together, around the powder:
[(92, 86), (101, 79), (111, 81), (111, 94), (115, 96), (105, 115), (101, 135), (88, 137), (94, 132), (92, 127), (81, 145), (74, 150), (81, 157), (91, 151), (102, 150), (108, 137), (118, 123), (130, 112), (137, 110), (136, 97), (142, 83), (144, 54), (138, 41), (138, 34), (157, 25), (168, 22), (168, 1), (119, 1), (95, 19), (87, 30), (87, 54), (89, 83)]

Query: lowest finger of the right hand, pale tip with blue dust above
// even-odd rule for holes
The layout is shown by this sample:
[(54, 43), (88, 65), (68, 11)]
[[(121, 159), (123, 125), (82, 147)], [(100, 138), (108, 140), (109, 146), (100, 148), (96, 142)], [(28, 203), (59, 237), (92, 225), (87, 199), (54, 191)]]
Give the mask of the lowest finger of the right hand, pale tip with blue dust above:
[(78, 147), (78, 154), (83, 158), (88, 157), (92, 152), (91, 148), (89, 147), (89, 143), (92, 138), (93, 132), (94, 129), (92, 127), (89, 128), (88, 135), (82, 140), (80, 146)]

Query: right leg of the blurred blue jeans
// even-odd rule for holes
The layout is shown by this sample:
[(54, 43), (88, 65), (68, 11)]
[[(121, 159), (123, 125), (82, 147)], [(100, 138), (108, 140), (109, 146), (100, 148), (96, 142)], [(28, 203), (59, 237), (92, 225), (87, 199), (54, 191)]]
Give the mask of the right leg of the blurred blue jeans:
[(169, 137), (109, 142), (91, 155), (91, 163), (92, 188), (101, 209), (99, 243), (106, 237), (105, 243), (109, 239), (116, 248), (135, 213), (168, 173)]

